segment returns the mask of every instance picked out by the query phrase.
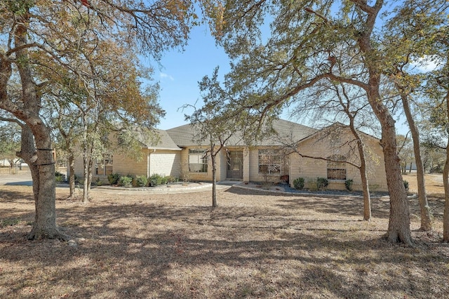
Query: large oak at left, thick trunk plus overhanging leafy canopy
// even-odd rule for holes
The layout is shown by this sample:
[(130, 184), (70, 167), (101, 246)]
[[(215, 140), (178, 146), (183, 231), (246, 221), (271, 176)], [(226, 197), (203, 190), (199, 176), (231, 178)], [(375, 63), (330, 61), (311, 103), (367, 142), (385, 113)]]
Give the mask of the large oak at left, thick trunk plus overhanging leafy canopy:
[[(187, 42), (196, 22), (194, 6), (182, 0), (5, 0), (0, 2), (0, 20), (0, 109), (25, 124), (18, 155), (29, 164), (33, 179), (36, 215), (28, 238), (67, 239), (55, 221), (53, 140), (41, 117), (46, 82), (38, 81), (36, 67), (52, 61), (82, 74), (68, 63), (76, 60), (74, 50), (82, 47), (72, 39), (74, 34), (67, 34), (76, 29), (76, 21), (93, 25), (88, 32), (92, 44), (112, 39), (158, 59), (163, 51)], [(18, 99), (11, 98), (8, 90), (15, 74), (21, 87)]]

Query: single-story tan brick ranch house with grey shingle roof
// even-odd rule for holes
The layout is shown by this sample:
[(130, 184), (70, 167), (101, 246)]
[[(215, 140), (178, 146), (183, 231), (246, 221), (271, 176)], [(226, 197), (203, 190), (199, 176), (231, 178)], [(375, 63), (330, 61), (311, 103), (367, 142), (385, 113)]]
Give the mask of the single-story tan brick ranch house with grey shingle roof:
[[(316, 130), (291, 121), (274, 122), (275, 137), (250, 147), (234, 138), (217, 156), (217, 181), (281, 182), (304, 178), (311, 187), (317, 178), (327, 178), (328, 188), (344, 190), (346, 180), (354, 181), (354, 190), (361, 190), (358, 168), (360, 164), (356, 141), (349, 128), (334, 124)], [(107, 155), (98, 161), (94, 176), (107, 181), (110, 173), (121, 175), (171, 175), (190, 181), (211, 181), (212, 166), (206, 154), (207, 142), (194, 140), (194, 127), (187, 124), (166, 131), (158, 131), (156, 144), (140, 134), (142, 157), (134, 159), (122, 152)], [(365, 144), (370, 188), (387, 190), (384, 159), (380, 140), (361, 133)], [(288, 146), (287, 146), (288, 145)], [(329, 161), (332, 160), (332, 161)], [(82, 176), (81, 157), (75, 161), (75, 173)], [(95, 180), (94, 180), (95, 181)]]

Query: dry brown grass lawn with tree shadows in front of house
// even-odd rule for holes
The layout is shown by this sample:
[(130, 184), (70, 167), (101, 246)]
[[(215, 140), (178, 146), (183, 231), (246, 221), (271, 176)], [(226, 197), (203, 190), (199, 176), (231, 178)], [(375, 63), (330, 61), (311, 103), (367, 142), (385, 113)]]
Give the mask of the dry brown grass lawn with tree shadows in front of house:
[(388, 199), (373, 199), (363, 222), (358, 197), (235, 187), (215, 209), (208, 191), (96, 191), (83, 205), (58, 188), (58, 225), (76, 246), (26, 241), (31, 187), (0, 186), (0, 298), (449, 298), (442, 183), (427, 185), (436, 232), (417, 231), (411, 199), (413, 248), (382, 239)]

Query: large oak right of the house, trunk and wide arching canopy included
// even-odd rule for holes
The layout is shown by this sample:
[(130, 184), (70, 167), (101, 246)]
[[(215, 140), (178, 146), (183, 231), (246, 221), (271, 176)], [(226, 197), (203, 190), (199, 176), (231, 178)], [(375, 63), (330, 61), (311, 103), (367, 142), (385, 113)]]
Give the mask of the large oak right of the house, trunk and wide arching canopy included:
[[(447, 18), (447, 1), (418, 2), (226, 1), (225, 22), (216, 32), (234, 60), (225, 77), (239, 99), (232, 109), (243, 109), (249, 117), (262, 121), (279, 116), (288, 105), (307, 106), (303, 92), (323, 81), (361, 88), (382, 128), (391, 198), (387, 239), (406, 244), (411, 244), (410, 215), (396, 152), (390, 76), (402, 58), (427, 53), (429, 41), (423, 28), (422, 43), (401, 48), (391, 43), (398, 35), (384, 28), (397, 18), (409, 20), (406, 13), (420, 13), (426, 26), (441, 26), (437, 16)], [(430, 5), (434, 8), (422, 9)]]

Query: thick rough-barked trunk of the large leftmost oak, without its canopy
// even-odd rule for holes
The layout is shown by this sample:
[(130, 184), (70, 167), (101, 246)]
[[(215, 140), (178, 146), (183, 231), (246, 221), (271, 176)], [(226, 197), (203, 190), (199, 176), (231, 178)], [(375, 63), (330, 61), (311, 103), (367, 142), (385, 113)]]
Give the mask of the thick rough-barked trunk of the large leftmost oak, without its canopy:
[[(29, 14), (23, 14), (23, 24), (29, 20)], [(27, 44), (27, 28), (18, 25), (15, 30), (15, 46)], [(17, 51), (17, 64), (22, 84), (23, 108), (13, 112), (15, 117), (25, 122), (27, 128), (22, 135), (22, 148), (20, 154), (30, 166), (33, 178), (33, 192), (36, 207), (36, 218), (28, 239), (63, 239), (68, 237), (61, 234), (56, 226), (55, 208), (55, 161), (53, 160), (53, 148), (50, 129), (43, 124), (39, 117), (41, 101), (37, 95), (36, 84), (32, 77), (32, 69), (26, 63), (28, 61), (27, 50)], [(31, 135), (34, 136), (34, 142)], [(34, 147), (34, 144), (36, 147)]]

